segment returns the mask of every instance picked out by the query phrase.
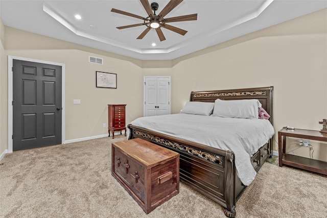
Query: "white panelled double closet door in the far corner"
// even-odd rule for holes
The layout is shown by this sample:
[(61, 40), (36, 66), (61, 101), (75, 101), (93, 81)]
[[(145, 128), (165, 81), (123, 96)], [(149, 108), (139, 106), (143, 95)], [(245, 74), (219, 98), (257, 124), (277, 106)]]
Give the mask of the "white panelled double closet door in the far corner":
[(144, 77), (144, 116), (170, 114), (170, 77)]

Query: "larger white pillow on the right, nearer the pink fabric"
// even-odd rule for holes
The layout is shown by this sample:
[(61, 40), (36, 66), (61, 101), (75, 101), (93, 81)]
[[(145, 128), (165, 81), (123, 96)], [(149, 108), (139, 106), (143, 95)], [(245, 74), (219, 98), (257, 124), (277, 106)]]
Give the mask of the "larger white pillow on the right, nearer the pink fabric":
[(261, 107), (261, 103), (258, 99), (248, 99), (248, 100), (216, 99), (213, 116), (258, 119), (259, 107)]

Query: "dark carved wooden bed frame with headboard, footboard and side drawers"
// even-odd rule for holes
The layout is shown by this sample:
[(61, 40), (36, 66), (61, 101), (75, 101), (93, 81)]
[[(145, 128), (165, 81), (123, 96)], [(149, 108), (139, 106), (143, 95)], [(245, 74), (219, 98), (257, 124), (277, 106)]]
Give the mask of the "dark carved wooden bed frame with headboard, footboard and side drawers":
[[(273, 124), (273, 86), (264, 88), (191, 92), (190, 101), (214, 102), (222, 100), (258, 99), (271, 116)], [(180, 154), (180, 179), (206, 197), (224, 207), (228, 217), (235, 217), (235, 204), (247, 186), (237, 177), (233, 151), (167, 136), (152, 130), (128, 125), (129, 139), (143, 138)], [(272, 139), (263, 145), (251, 158), (258, 171), (272, 154)]]

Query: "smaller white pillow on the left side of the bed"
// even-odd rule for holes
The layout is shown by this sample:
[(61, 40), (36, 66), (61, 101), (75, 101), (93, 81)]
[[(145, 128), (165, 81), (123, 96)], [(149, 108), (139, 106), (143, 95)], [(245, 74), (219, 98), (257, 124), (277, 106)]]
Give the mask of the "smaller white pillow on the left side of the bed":
[(180, 113), (209, 116), (213, 112), (214, 105), (214, 102), (188, 101)]

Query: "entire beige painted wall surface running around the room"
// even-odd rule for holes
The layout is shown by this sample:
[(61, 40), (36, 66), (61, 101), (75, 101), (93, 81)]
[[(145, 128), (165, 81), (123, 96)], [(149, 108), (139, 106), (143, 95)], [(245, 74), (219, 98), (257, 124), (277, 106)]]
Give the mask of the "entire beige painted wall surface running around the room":
[[(66, 140), (106, 134), (108, 103), (127, 104), (127, 123), (142, 116), (143, 76), (150, 75), (171, 76), (172, 113), (191, 91), (273, 85), (275, 132), (286, 125), (319, 130), (327, 115), (326, 14), (318, 11), (171, 61), (136, 60), (8, 27), (5, 54), (65, 63)], [(104, 65), (88, 63), (88, 55), (104, 58)], [(117, 73), (118, 89), (96, 89), (95, 71)], [(1, 76), (7, 89), (7, 72)], [(324, 160), (326, 153), (327, 146), (315, 146), (315, 158)], [(309, 157), (309, 150), (296, 154)]]

